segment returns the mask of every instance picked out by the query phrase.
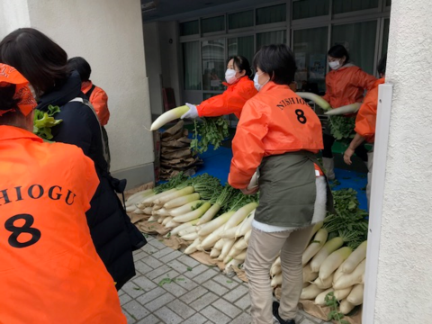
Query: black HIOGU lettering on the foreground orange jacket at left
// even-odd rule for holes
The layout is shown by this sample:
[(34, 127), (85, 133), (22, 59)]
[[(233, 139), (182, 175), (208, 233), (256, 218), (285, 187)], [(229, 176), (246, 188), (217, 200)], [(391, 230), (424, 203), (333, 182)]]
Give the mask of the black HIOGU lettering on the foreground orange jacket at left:
[(31, 184), (28, 187), (16, 186), (0, 190), (0, 206), (6, 203), (20, 202), (25, 200), (38, 200), (49, 198), (52, 201), (63, 201), (67, 205), (75, 202), (76, 194), (71, 190), (62, 188), (59, 185), (43, 186)]

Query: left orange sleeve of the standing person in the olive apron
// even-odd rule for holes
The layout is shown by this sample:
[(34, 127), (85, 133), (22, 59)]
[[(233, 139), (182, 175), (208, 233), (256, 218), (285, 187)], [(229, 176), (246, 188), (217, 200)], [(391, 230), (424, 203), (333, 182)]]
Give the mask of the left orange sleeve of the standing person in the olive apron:
[[(259, 104), (259, 103), (258, 103)], [(247, 102), (232, 140), (232, 160), (228, 182), (234, 188), (246, 188), (264, 157), (263, 139), (268, 121), (263, 107)]]

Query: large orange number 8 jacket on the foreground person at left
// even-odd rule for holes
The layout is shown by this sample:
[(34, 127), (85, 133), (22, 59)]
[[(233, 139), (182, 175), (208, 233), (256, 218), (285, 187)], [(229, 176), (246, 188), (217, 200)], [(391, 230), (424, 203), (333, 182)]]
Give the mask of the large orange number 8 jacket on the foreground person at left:
[(92, 160), (12, 126), (0, 152), (0, 323), (126, 323), (85, 218)]

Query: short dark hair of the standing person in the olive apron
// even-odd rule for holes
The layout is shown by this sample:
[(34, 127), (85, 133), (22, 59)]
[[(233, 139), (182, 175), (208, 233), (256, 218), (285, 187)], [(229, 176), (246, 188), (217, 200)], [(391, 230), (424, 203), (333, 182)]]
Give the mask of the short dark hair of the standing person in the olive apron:
[(290, 85), (296, 70), (293, 51), (284, 44), (263, 46), (254, 57), (259, 67), (277, 85)]

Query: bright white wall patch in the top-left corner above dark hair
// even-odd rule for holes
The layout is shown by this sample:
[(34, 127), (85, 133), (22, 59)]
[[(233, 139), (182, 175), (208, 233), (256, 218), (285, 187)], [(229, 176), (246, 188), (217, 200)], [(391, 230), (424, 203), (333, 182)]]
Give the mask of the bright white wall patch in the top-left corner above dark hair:
[(0, 40), (20, 27), (30, 27), (27, 0), (0, 1)]

